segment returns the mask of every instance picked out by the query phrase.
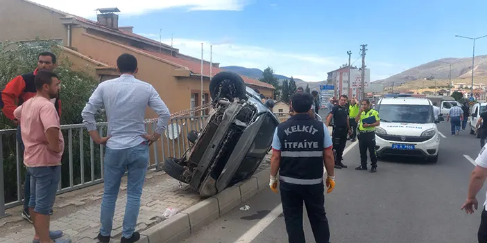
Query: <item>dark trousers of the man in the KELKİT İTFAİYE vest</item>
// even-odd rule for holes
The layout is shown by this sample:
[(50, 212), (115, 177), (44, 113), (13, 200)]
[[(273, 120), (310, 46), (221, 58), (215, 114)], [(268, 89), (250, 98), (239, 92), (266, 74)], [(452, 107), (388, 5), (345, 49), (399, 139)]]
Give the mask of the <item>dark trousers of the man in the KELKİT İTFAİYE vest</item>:
[(302, 229), (302, 202), (305, 202), (309, 223), (317, 243), (330, 242), (330, 227), (325, 213), (325, 189), (323, 183), (295, 185), (280, 183), (282, 210), (286, 222), (289, 243), (305, 243)]

